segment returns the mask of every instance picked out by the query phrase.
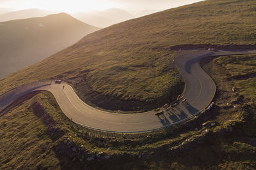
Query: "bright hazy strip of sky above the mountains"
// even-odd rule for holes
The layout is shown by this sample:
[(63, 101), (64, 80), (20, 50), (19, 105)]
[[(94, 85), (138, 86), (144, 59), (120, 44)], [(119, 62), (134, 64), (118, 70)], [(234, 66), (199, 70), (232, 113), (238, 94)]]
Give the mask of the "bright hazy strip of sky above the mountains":
[(0, 0), (0, 8), (24, 10), (40, 8), (52, 11), (90, 11), (120, 8), (127, 11), (165, 10), (202, 0)]

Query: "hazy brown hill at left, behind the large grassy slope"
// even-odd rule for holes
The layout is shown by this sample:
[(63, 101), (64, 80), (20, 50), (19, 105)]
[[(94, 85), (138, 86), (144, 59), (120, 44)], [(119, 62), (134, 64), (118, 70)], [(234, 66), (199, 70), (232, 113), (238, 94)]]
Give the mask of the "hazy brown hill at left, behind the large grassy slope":
[(65, 13), (0, 22), (0, 78), (39, 62), (98, 29)]

